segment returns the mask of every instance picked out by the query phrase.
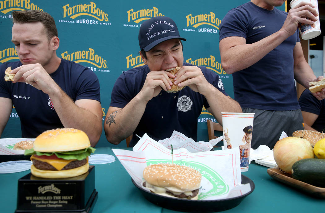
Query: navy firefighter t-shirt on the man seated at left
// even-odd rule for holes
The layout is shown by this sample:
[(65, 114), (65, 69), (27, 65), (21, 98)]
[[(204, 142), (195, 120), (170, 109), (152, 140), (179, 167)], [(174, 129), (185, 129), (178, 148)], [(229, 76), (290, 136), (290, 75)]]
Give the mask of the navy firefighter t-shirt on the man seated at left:
[[(10, 98), (19, 115), (23, 138), (35, 138), (50, 129), (63, 128), (55, 103), (49, 96), (26, 83), (4, 80), (5, 70), (21, 66), (18, 62), (0, 64), (0, 97)], [(75, 102), (92, 99), (100, 102), (99, 81), (96, 74), (85, 66), (61, 59), (59, 68), (50, 76)]]

